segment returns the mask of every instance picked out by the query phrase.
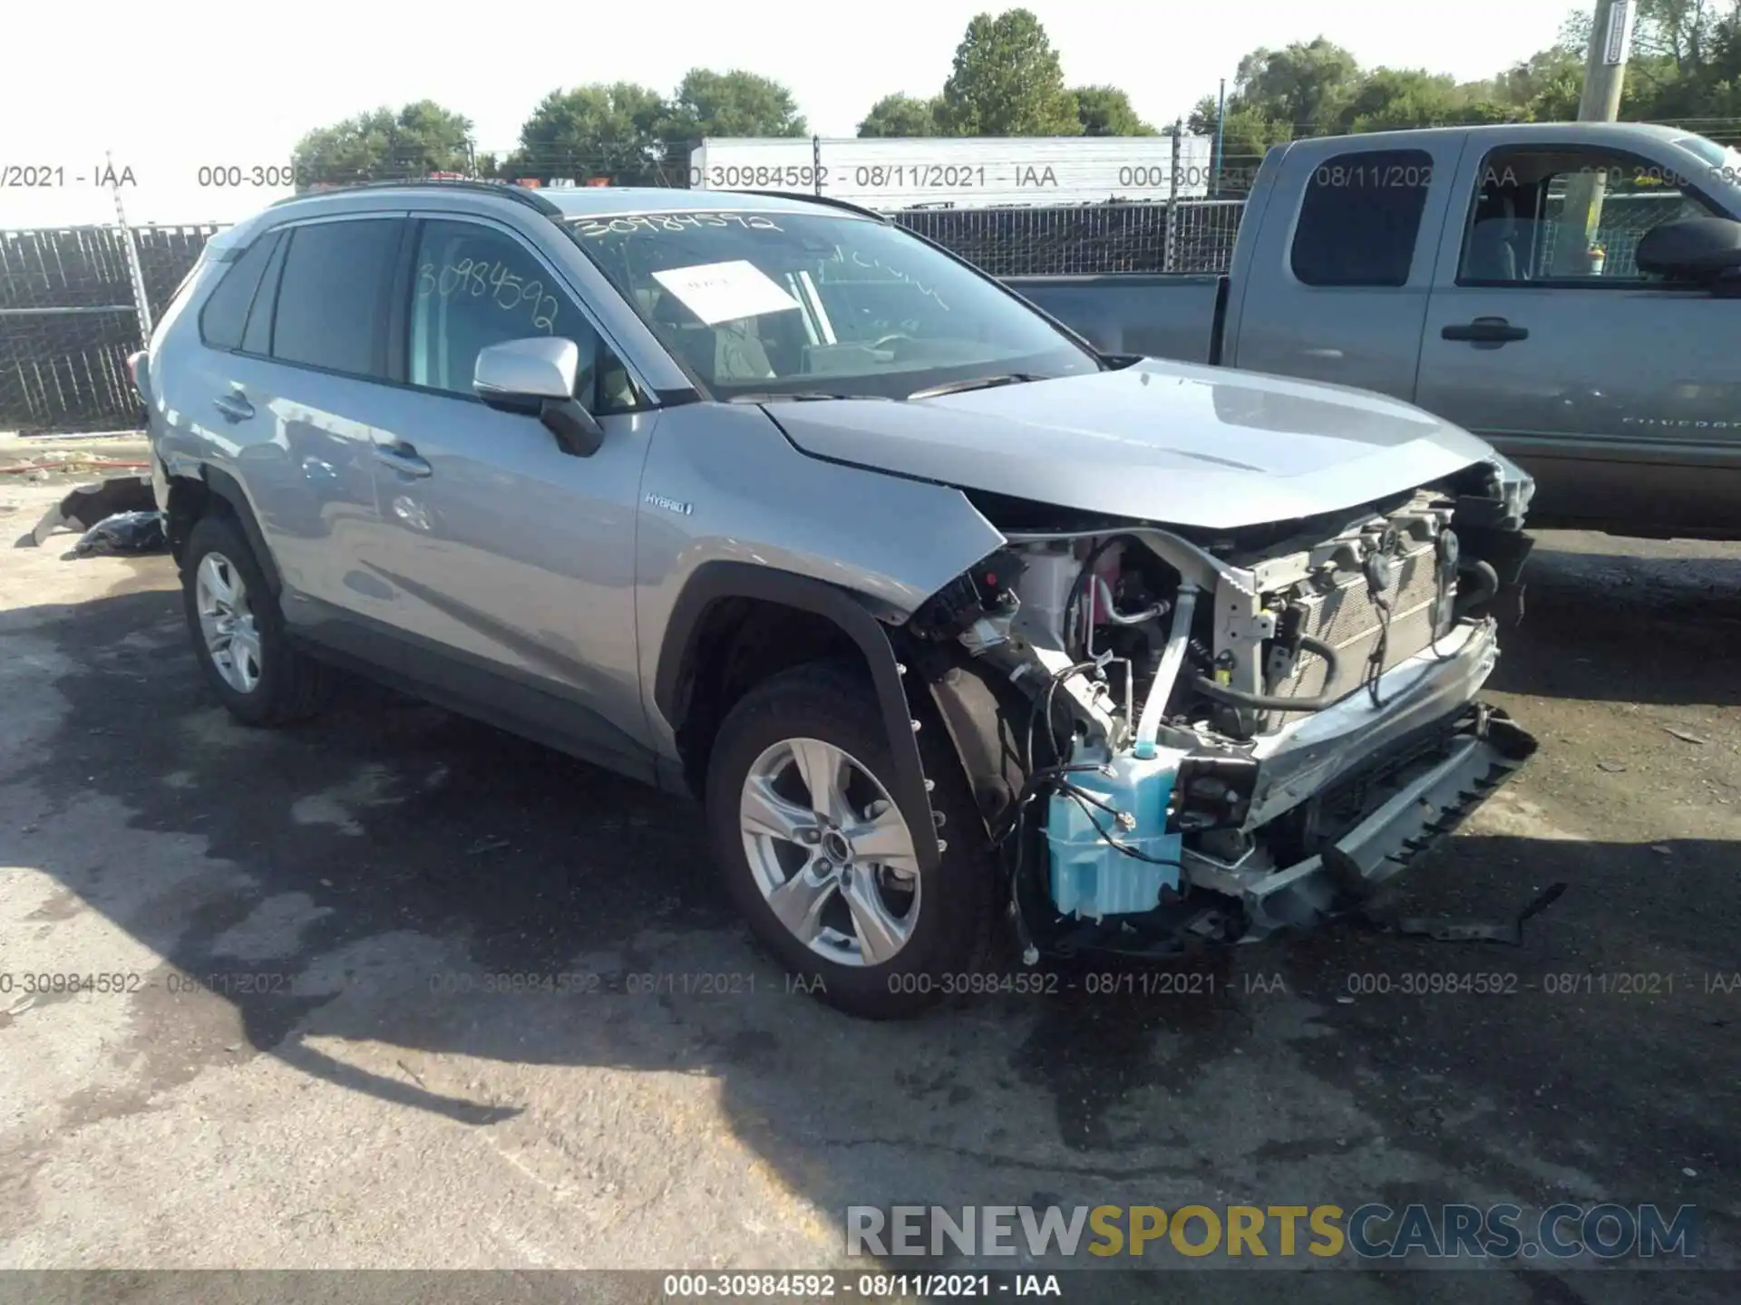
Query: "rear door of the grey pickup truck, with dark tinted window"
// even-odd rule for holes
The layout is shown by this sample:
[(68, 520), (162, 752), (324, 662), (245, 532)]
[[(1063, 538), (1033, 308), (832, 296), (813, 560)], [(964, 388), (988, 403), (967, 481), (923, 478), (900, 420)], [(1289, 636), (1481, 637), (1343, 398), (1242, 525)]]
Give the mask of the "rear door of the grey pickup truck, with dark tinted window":
[(1260, 191), (1250, 256), (1234, 259), (1222, 360), (1231, 367), (1414, 398), (1466, 132), (1400, 150), (1382, 136), (1297, 144)]

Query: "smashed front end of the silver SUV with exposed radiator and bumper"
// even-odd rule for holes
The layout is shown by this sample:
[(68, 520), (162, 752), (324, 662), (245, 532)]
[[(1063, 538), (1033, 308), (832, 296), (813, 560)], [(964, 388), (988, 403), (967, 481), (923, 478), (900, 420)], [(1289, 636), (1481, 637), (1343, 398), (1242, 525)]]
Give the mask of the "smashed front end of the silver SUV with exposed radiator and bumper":
[[(1508, 477), (1508, 472), (1513, 473)], [(900, 633), (1027, 960), (1165, 955), (1368, 896), (1536, 748), (1478, 701), (1530, 482), (1229, 531), (970, 494), (1005, 546)]]

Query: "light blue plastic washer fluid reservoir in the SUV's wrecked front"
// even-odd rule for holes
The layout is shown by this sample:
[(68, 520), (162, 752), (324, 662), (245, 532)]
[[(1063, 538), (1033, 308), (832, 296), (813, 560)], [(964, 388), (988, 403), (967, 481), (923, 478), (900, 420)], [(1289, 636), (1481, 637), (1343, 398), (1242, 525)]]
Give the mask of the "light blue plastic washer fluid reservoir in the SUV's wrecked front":
[(1184, 755), (1172, 748), (1156, 748), (1149, 759), (1126, 752), (1111, 762), (1111, 774), (1076, 771), (1067, 776), (1076, 788), (1112, 811), (1135, 816), (1133, 830), (1093, 802), (1052, 793), (1046, 842), (1052, 847), (1052, 901), (1059, 912), (1099, 920), (1154, 910), (1163, 887), (1179, 887), (1177, 865), (1154, 865), (1121, 853), (1100, 837), (1095, 823), (1144, 856), (1177, 863), (1182, 840), (1166, 832), (1166, 806)]

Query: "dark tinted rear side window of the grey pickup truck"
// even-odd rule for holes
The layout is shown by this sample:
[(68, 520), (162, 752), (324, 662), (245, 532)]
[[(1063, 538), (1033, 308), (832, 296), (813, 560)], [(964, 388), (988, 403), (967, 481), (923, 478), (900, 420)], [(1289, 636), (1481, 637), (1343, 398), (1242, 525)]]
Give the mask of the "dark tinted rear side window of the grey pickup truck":
[(1306, 285), (1407, 285), (1433, 155), (1365, 150), (1313, 172), (1290, 263)]

